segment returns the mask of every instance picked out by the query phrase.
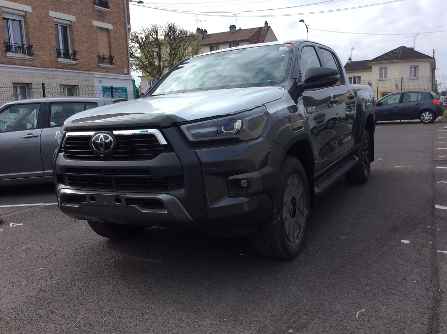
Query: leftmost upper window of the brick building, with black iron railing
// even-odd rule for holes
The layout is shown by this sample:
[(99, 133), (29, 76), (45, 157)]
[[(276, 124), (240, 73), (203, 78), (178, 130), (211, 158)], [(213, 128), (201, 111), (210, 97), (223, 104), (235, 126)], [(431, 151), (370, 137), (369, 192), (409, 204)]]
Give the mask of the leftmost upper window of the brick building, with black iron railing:
[(23, 16), (3, 13), (4, 44), (6, 52), (32, 56), (32, 45), (25, 43)]

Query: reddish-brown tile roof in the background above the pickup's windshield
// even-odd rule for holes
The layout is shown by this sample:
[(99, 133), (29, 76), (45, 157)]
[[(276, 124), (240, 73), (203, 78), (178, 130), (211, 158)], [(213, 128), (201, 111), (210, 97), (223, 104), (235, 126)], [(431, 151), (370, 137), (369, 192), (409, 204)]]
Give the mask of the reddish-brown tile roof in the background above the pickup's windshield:
[(224, 33), (209, 33), (203, 38), (200, 45), (239, 42), (243, 40), (248, 40), (250, 44), (262, 43), (269, 30), (270, 26), (267, 26), (267, 29), (264, 29), (264, 26), (262, 26), (259, 28), (238, 29), (234, 33), (230, 33), (229, 31)]

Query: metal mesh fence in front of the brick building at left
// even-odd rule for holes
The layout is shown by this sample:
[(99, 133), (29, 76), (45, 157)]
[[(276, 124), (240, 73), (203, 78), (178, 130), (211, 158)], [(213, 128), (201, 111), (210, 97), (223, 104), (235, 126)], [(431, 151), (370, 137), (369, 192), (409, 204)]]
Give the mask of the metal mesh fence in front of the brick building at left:
[(134, 92), (126, 87), (86, 86), (60, 84), (15, 84), (0, 82), (0, 105), (23, 99), (57, 98), (61, 96), (83, 96), (98, 98), (134, 99)]

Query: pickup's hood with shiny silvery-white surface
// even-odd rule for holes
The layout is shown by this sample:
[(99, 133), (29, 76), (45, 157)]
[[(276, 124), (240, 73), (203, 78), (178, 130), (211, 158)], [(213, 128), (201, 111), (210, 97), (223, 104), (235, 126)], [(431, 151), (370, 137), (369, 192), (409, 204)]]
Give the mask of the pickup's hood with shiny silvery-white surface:
[(285, 94), (282, 87), (250, 87), (150, 96), (89, 109), (71, 116), (65, 128), (151, 125), (224, 116), (250, 110)]

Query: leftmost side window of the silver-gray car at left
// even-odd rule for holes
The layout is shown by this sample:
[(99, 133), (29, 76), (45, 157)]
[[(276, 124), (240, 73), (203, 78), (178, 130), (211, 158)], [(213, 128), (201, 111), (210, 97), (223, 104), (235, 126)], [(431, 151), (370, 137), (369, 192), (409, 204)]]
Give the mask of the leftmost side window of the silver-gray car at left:
[(0, 132), (35, 129), (40, 103), (15, 104), (0, 113)]

